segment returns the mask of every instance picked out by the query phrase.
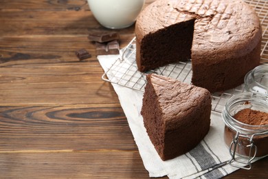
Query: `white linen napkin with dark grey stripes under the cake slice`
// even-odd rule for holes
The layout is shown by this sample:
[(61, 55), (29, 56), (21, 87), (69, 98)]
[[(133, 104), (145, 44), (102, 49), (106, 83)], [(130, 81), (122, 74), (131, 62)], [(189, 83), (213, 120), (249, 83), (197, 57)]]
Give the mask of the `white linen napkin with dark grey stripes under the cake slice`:
[[(118, 55), (98, 56), (98, 60), (107, 72), (119, 57)], [(230, 160), (230, 154), (223, 141), (225, 125), (219, 112), (212, 111), (210, 131), (197, 147), (182, 156), (162, 161), (150, 142), (140, 114), (144, 92), (114, 83), (112, 85), (118, 94), (144, 167), (150, 177), (222, 178), (238, 169), (227, 163)]]

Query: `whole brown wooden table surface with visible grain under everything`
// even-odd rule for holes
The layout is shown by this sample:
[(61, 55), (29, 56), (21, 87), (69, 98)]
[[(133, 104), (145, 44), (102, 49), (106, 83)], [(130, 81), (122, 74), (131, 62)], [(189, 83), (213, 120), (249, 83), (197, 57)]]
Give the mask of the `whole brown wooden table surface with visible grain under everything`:
[[(0, 1), (0, 178), (148, 178), (91, 30), (109, 31), (86, 0)], [(226, 178), (265, 178), (267, 161)]]

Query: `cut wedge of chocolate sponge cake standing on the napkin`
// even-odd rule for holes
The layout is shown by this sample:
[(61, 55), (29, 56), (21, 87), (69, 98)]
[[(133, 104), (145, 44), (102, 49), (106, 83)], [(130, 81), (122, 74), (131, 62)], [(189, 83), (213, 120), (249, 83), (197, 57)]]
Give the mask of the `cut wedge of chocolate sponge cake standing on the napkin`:
[(157, 74), (146, 78), (141, 114), (151, 142), (162, 160), (185, 154), (208, 134), (210, 92)]

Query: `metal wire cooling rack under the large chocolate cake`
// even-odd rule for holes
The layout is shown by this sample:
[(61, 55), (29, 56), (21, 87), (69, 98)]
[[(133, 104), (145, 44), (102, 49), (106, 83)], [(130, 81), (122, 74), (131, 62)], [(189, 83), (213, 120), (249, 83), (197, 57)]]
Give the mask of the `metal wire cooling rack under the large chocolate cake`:
[[(261, 61), (268, 63), (268, 1), (267, 0), (245, 0), (253, 6), (260, 17), (263, 28), (263, 40), (261, 46)], [(191, 61), (172, 63), (146, 73), (139, 72), (136, 64), (136, 46), (135, 38), (124, 48), (122, 55), (109, 67), (107, 72), (102, 75), (102, 80), (110, 83), (130, 87), (144, 91), (146, 85), (146, 74), (155, 73), (170, 78), (176, 78), (184, 83), (191, 83), (192, 64)], [(212, 111), (222, 112), (227, 100), (235, 95), (244, 92), (244, 85), (240, 85), (234, 89), (225, 92), (216, 92), (212, 94)]]

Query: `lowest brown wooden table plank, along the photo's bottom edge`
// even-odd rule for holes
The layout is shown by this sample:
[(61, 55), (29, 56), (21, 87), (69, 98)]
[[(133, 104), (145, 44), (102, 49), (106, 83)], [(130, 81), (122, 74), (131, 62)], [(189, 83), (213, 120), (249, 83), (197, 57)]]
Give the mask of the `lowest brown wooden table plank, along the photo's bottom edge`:
[(0, 166), (1, 178), (148, 178), (137, 151), (0, 154)]

